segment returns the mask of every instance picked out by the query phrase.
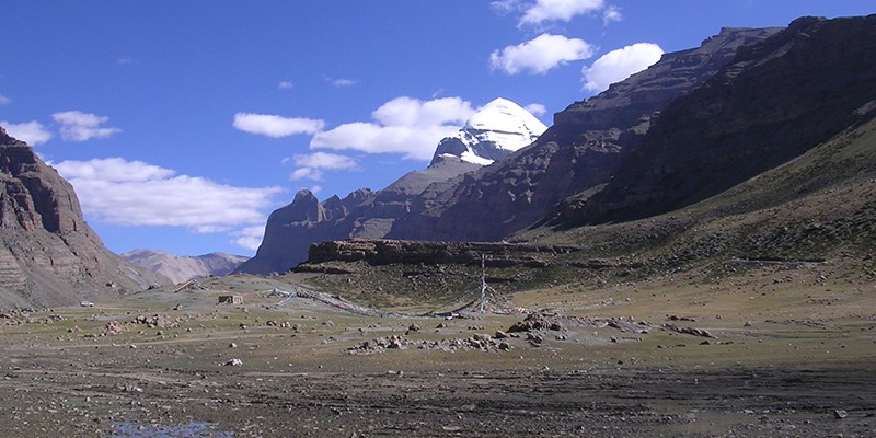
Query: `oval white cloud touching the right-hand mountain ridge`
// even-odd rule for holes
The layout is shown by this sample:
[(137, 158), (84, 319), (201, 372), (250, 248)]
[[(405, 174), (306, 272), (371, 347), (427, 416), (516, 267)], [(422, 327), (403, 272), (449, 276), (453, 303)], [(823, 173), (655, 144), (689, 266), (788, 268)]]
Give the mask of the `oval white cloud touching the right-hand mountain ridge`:
[(581, 69), (584, 89), (600, 92), (660, 60), (662, 48), (654, 43), (636, 43), (602, 55)]

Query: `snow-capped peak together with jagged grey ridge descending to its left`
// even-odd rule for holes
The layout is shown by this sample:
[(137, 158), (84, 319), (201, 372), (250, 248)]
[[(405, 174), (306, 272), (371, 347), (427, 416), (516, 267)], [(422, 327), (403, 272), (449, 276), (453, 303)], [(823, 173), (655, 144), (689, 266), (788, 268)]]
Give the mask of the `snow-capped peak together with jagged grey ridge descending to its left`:
[(256, 255), (235, 272), (286, 272), (308, 257), (312, 243), (350, 238), (378, 239), (407, 216), (427, 189), (512, 153), (545, 129), (516, 103), (496, 99), (481, 107), (454, 136), (442, 139), (428, 168), (410, 172), (379, 192), (364, 188), (323, 203), (301, 191), (274, 211)]

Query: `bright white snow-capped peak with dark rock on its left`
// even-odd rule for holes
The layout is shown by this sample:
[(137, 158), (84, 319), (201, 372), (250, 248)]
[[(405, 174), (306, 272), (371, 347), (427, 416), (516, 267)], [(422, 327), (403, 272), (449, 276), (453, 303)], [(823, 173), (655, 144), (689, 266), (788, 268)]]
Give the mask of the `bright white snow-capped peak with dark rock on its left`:
[(482, 106), (454, 136), (438, 143), (433, 164), (448, 155), (487, 165), (535, 141), (548, 129), (520, 105), (498, 97)]

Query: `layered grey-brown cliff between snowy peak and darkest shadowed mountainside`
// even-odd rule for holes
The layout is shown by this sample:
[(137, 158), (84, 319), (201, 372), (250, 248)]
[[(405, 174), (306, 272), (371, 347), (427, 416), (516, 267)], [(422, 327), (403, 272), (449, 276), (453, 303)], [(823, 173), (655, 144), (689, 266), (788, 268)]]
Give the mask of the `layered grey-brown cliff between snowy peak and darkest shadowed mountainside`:
[[(538, 141), (493, 165), (426, 189), (387, 235), (496, 241), (541, 220), (564, 197), (604, 184), (672, 100), (700, 87), (736, 49), (780, 28), (724, 28), (554, 116)], [(489, 218), (489, 220), (483, 220)]]

